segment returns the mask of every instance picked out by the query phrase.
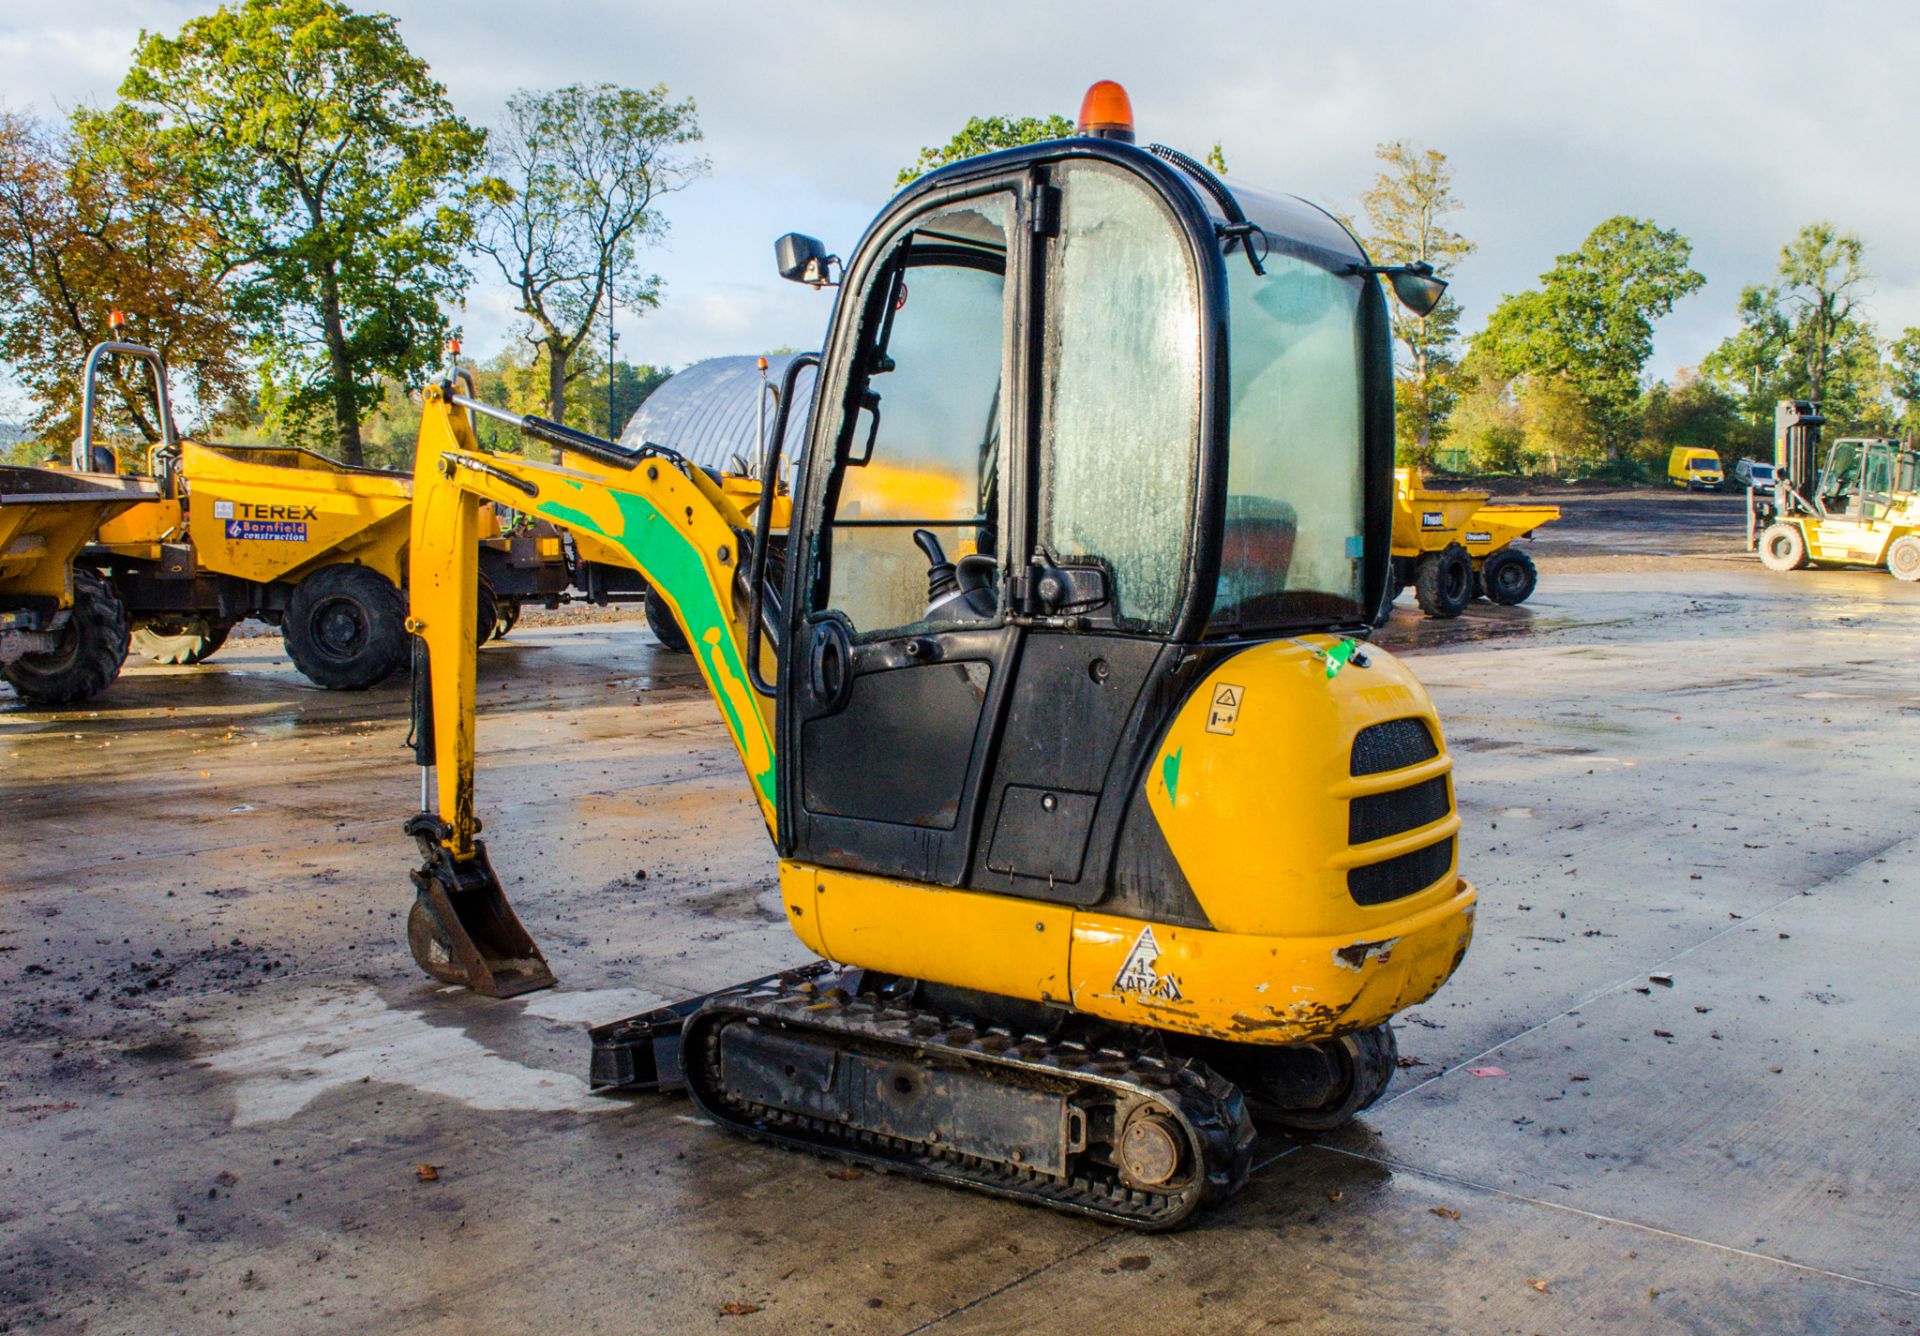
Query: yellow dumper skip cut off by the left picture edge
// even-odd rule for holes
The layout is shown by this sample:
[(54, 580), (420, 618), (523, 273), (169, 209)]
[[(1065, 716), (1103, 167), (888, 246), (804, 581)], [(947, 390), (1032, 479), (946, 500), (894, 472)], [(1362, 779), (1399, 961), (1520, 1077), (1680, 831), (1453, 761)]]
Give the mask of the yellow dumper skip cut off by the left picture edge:
[(154, 505), (150, 482), (71, 468), (0, 468), (0, 599), (73, 605), (73, 559), (104, 522)]

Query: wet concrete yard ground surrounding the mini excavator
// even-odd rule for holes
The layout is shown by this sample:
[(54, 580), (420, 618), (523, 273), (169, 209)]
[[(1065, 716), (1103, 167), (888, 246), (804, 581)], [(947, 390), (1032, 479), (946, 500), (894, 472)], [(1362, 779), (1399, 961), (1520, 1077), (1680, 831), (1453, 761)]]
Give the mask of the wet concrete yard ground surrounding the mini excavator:
[(255, 637), (0, 691), (0, 1330), (1912, 1328), (1920, 587), (1772, 576), (1726, 497), (1565, 503), (1532, 603), (1382, 633), (1473, 952), (1382, 1104), (1173, 1236), (586, 1092), (589, 1021), (804, 958), (637, 620), (482, 655), (486, 837), (561, 975), (513, 1002), (401, 941), (403, 685)]

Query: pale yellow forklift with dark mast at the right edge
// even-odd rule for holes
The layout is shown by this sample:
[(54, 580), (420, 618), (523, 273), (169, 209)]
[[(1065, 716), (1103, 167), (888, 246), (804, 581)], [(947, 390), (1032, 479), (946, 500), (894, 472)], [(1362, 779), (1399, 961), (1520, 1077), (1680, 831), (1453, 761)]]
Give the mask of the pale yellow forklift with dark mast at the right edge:
[(1884, 566), (1920, 580), (1920, 453), (1897, 440), (1843, 438), (1822, 463), (1822, 426), (1805, 399), (1774, 407), (1774, 486), (1747, 489), (1747, 551), (1768, 570)]

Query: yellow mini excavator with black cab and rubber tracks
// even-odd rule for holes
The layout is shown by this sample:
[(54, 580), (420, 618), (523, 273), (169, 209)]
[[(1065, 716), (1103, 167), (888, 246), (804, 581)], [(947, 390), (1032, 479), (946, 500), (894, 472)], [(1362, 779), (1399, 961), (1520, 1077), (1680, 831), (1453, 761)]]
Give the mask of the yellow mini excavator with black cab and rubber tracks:
[[(1459, 966), (1452, 760), (1361, 641), (1392, 561), (1380, 278), (1329, 213), (1133, 144), (935, 171), (845, 265), (785, 534), (657, 447), (430, 386), (411, 543), (409, 941), (438, 979), (553, 981), (472, 810), (484, 501), (670, 605), (822, 962), (593, 1033), (603, 1088), (722, 1127), (1140, 1229), (1246, 1179), (1254, 1121), (1329, 1129), (1394, 1071), (1388, 1021)], [(1229, 355), (1231, 351), (1231, 355)], [(828, 964), (833, 962), (833, 964)]]

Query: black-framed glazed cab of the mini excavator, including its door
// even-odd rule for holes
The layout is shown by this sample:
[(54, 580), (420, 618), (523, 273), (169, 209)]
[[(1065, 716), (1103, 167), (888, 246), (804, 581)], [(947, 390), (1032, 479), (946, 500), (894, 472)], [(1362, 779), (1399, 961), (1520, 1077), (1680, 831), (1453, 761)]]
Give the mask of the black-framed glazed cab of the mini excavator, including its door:
[(1069, 140), (897, 200), (814, 395), (781, 852), (1102, 898), (1133, 799), (1110, 775), (1175, 670), (1379, 607), (1384, 330), (1338, 223), (1179, 157)]

